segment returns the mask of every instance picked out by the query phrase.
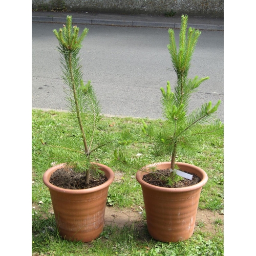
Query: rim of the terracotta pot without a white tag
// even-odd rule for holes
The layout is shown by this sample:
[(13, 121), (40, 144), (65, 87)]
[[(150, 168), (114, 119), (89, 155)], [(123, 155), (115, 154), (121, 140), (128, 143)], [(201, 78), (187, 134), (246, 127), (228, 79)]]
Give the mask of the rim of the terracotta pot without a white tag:
[(84, 189), (68, 189), (68, 188), (57, 187), (57, 186), (53, 185), (52, 183), (50, 183), (49, 180), (50, 180), (51, 174), (53, 172), (55, 172), (55, 170), (61, 168), (62, 166), (65, 166), (66, 163), (60, 163), (60, 164), (57, 164), (57, 165), (49, 168), (44, 173), (44, 176), (42, 179), (43, 179), (45, 185), (49, 189), (58, 191), (60, 193), (69, 193), (69, 194), (89, 194), (89, 193), (93, 193), (93, 192), (101, 190), (105, 187), (110, 186), (110, 184), (114, 181), (114, 177), (115, 177), (113, 170), (109, 166), (106, 166), (101, 163), (96, 163), (96, 162), (91, 162), (91, 163), (98, 165), (99, 167), (101, 167), (101, 169), (106, 170), (106, 173), (109, 173), (108, 180), (106, 182), (104, 182), (103, 184), (96, 186), (96, 187), (90, 187), (90, 188), (84, 188)]

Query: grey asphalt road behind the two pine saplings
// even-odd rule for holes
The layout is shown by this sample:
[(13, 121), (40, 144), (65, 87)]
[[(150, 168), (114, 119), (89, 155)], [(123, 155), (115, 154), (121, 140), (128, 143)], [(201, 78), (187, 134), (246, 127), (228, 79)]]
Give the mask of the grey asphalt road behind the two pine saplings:
[[(32, 23), (32, 108), (67, 110), (58, 45), (52, 30), (61, 24)], [(89, 28), (81, 58), (84, 81), (91, 80), (102, 105), (102, 113), (118, 116), (161, 118), (160, 87), (175, 72), (167, 50), (168, 29), (79, 25)], [(176, 30), (178, 38), (179, 30)], [(222, 103), (218, 110), (224, 121), (223, 31), (203, 30), (189, 77), (205, 77), (191, 97), (191, 110), (209, 100)]]

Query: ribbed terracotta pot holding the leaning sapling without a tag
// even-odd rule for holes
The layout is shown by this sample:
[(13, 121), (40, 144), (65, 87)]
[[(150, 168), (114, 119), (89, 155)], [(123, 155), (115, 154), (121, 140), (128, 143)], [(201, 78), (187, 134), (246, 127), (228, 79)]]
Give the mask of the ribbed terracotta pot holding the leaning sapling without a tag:
[(99, 237), (103, 230), (106, 199), (114, 173), (106, 165), (93, 164), (108, 178), (108, 181), (93, 188), (65, 189), (51, 184), (52, 173), (65, 164), (53, 166), (44, 174), (43, 180), (50, 190), (57, 228), (63, 239), (90, 242)]

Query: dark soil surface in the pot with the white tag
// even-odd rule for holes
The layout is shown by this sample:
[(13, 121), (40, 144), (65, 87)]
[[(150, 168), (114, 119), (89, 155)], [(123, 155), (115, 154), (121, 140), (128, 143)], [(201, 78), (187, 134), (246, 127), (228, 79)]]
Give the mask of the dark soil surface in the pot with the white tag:
[[(191, 174), (191, 173), (185, 172), (184, 170), (182, 170), (182, 172)], [(201, 179), (196, 174), (191, 174), (191, 175), (193, 175), (193, 178), (191, 180), (183, 178), (183, 180), (175, 183), (173, 186), (170, 186), (168, 184), (167, 180), (164, 179), (164, 177), (163, 177), (163, 175), (165, 177), (169, 177), (170, 174), (171, 174), (170, 168), (167, 168), (164, 170), (156, 170), (156, 172), (145, 174), (143, 176), (142, 180), (144, 180), (145, 182), (147, 182), (151, 185), (155, 185), (155, 186), (159, 186), (159, 187), (174, 187), (174, 188), (192, 186), (201, 181)]]

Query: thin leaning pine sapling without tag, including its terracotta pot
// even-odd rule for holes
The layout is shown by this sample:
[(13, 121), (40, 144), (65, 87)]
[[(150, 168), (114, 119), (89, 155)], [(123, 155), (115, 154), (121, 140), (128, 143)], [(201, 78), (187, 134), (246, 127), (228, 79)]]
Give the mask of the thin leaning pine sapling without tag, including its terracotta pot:
[(50, 190), (61, 237), (89, 242), (103, 229), (108, 189), (114, 180), (112, 169), (93, 161), (92, 155), (113, 139), (97, 130), (102, 118), (100, 104), (91, 81), (84, 84), (82, 80), (79, 52), (88, 29), (79, 36), (79, 28), (72, 26), (72, 16), (67, 16), (66, 25), (53, 32), (59, 42), (57, 49), (61, 56), (62, 78), (68, 86), (70, 115), (74, 125), (79, 127), (81, 143), (73, 136), (42, 138), (50, 161), (55, 163), (45, 172), (43, 180)]

